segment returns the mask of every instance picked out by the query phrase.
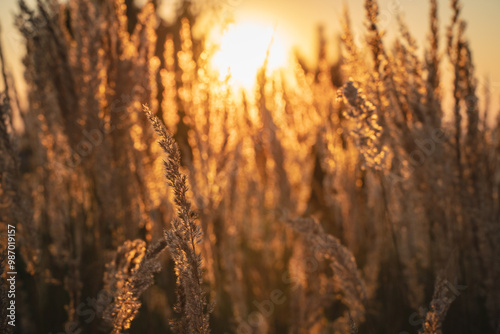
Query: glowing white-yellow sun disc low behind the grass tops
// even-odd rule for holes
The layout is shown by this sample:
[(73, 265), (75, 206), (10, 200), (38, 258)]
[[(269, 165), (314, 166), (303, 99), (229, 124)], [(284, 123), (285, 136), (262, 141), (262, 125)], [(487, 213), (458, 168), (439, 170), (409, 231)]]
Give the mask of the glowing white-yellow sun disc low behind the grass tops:
[(223, 79), (229, 73), (233, 84), (251, 88), (269, 50), (268, 70), (284, 67), (287, 46), (277, 29), (256, 22), (232, 24), (219, 41), (212, 65)]

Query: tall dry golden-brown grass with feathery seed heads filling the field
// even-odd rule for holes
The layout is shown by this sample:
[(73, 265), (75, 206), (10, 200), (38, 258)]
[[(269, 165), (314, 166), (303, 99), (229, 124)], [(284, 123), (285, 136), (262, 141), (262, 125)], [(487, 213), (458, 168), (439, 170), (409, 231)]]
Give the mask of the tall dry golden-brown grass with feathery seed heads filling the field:
[(24, 133), (0, 58), (17, 331), (498, 331), (500, 118), (459, 1), (445, 38), (430, 1), (421, 57), (367, 0), (361, 45), (346, 10), (338, 63), (320, 30), (316, 67), (292, 84), (264, 63), (253, 94), (211, 71), (187, 2), (171, 26), (153, 3), (19, 4)]

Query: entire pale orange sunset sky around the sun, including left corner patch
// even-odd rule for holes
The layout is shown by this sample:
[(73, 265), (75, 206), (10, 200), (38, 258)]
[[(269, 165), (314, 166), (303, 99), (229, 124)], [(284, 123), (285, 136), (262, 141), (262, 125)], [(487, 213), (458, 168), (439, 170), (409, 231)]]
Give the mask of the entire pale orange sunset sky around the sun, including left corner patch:
[[(299, 52), (310, 61), (316, 52), (316, 28), (319, 23), (326, 27), (330, 45), (330, 57), (334, 58), (337, 50), (337, 36), (340, 28), (342, 9), (348, 3), (355, 33), (362, 38), (363, 30), (363, 0), (215, 0), (220, 1), (223, 7), (229, 9), (234, 15), (235, 25), (244, 22), (247, 29), (260, 27), (262, 31), (274, 29), (279, 45), (281, 57), (287, 54), (289, 48), (296, 46)], [(28, 1), (31, 3), (32, 1)], [(138, 1), (139, 3), (141, 1)], [(168, 11), (170, 4), (165, 2), (164, 10)], [(489, 76), (491, 81), (492, 96), (495, 106), (500, 97), (500, 1), (498, 0), (463, 0), (462, 15), (468, 22), (467, 36), (469, 37), (476, 75), (480, 82)], [(15, 0), (3, 0), (0, 3), (0, 19), (2, 24), (2, 42), (7, 53), (9, 64), (15, 67), (16, 77), (21, 77), (17, 59), (22, 54), (19, 47), (19, 35), (12, 26), (12, 14), (16, 12)], [(425, 42), (428, 32), (428, 1), (416, 0), (381, 0), (380, 18), (381, 26), (387, 30), (386, 43), (390, 43), (397, 33), (396, 16), (398, 12), (406, 18), (411, 32), (417, 38), (419, 45)], [(444, 29), (450, 20), (449, 1), (439, 1), (440, 25), (442, 29), (441, 46), (444, 44)], [(168, 15), (167, 15), (168, 16)], [(258, 30), (259, 30), (258, 29)], [(267, 30), (266, 30), (267, 29)], [(240, 27), (241, 31), (244, 28)], [(236, 33), (231, 40), (238, 39)], [(247, 38), (243, 34), (242, 38)], [(262, 35), (261, 39), (267, 38)], [(278, 38), (279, 37), (279, 38)], [(231, 39), (232, 38), (232, 39)], [(266, 42), (267, 43), (267, 42)], [(236, 50), (237, 51), (237, 50)], [(230, 57), (230, 56), (229, 56)], [(446, 66), (446, 63), (444, 63)], [(444, 70), (445, 68), (443, 68)]]

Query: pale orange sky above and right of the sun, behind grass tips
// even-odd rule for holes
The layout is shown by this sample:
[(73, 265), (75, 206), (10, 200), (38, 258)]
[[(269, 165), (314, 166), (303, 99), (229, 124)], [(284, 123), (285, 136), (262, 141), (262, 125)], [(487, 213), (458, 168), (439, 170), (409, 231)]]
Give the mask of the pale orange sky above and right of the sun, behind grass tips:
[[(223, 0), (224, 1), (224, 0)], [(327, 33), (335, 52), (335, 35), (339, 32), (342, 8), (348, 5), (353, 27), (357, 34), (363, 30), (363, 0), (227, 0), (235, 3), (236, 21), (246, 18), (277, 25), (284, 31), (293, 44), (298, 45), (309, 58), (313, 58), (315, 48), (315, 28), (318, 23), (327, 27)], [(451, 17), (449, 1), (438, 1), (440, 25), (442, 29), (441, 45), (444, 44), (444, 30)], [(473, 50), (478, 77), (490, 76), (492, 83), (497, 83), (500, 95), (500, 1), (499, 0), (463, 0), (462, 15), (468, 22), (467, 36)], [(381, 26), (387, 30), (386, 43), (390, 43), (397, 34), (396, 17), (404, 15), (411, 32), (419, 45), (424, 46), (428, 32), (429, 4), (425, 0), (380, 0)]]

